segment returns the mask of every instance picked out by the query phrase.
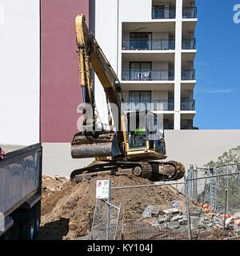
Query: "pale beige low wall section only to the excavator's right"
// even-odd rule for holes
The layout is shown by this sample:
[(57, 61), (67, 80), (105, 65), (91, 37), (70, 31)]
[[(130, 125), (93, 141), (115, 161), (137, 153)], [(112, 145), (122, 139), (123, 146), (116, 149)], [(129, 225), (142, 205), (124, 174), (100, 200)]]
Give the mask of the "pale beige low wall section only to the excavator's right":
[(240, 130), (166, 130), (166, 160), (204, 166), (236, 146), (240, 146)]

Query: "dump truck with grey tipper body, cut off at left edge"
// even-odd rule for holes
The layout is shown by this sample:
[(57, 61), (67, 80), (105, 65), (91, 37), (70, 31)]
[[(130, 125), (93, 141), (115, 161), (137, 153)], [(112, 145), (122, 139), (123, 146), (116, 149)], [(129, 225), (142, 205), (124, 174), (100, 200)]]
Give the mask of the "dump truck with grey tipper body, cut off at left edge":
[(0, 240), (36, 238), (41, 222), (42, 146), (0, 160)]

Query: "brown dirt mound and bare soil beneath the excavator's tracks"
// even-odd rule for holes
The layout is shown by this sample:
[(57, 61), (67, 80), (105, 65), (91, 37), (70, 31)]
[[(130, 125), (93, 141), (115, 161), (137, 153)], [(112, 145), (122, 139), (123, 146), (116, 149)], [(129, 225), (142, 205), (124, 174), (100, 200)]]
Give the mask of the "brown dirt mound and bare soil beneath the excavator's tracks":
[[(104, 176), (90, 181), (74, 183), (64, 178), (42, 178), (42, 223), (37, 240), (84, 240), (90, 238), (91, 219), (94, 215), (95, 186), (97, 179), (111, 179), (112, 186), (135, 186), (151, 184), (150, 181), (135, 176)], [(111, 203), (122, 203), (122, 216), (129, 224), (124, 239), (144, 240), (186, 240), (187, 230), (161, 230), (151, 225), (152, 220), (143, 219), (147, 206), (169, 209), (170, 202), (178, 200), (180, 209), (185, 212), (186, 198), (173, 186), (154, 186), (127, 190), (114, 190)], [(190, 202), (190, 207), (198, 207)], [(130, 227), (132, 225), (132, 229)], [(130, 236), (129, 236), (130, 235)], [(194, 231), (193, 239), (223, 239), (226, 231)], [(119, 237), (118, 237), (119, 239)]]

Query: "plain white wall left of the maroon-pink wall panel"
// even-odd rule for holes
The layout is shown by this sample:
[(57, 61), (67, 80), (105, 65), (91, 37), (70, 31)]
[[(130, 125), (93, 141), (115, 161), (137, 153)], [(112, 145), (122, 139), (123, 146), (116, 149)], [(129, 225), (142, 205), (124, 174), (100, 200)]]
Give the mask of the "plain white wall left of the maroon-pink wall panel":
[(0, 143), (39, 141), (39, 1), (1, 0)]

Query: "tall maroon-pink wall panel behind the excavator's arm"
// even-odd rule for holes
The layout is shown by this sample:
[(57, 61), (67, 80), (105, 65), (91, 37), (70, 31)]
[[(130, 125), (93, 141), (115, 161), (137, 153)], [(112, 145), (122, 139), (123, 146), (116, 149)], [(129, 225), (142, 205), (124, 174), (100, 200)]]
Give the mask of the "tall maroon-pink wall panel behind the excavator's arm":
[(74, 18), (89, 0), (41, 1), (41, 142), (70, 142), (77, 130), (78, 54)]

